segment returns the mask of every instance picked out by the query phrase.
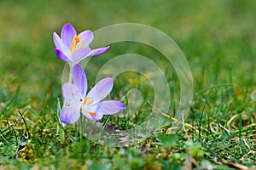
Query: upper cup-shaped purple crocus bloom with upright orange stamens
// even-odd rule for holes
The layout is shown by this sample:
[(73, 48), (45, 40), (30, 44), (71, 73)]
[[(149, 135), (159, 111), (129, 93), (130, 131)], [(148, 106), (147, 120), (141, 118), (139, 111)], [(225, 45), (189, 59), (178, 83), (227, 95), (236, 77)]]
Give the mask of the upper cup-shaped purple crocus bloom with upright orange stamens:
[(78, 64), (79, 61), (89, 56), (103, 54), (109, 47), (90, 49), (89, 44), (93, 40), (93, 32), (83, 31), (77, 35), (77, 31), (71, 24), (66, 24), (61, 29), (61, 37), (55, 32), (53, 34), (55, 42), (55, 54), (63, 61)]

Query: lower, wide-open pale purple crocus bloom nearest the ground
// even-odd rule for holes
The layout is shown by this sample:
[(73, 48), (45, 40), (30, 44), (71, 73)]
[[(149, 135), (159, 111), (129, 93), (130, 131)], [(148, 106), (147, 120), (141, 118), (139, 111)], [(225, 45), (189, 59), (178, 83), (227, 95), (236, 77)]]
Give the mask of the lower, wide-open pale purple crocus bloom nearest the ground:
[(113, 88), (113, 79), (108, 77), (96, 83), (87, 91), (87, 79), (80, 65), (73, 67), (73, 83), (62, 85), (63, 97), (67, 105), (61, 111), (61, 122), (72, 124), (79, 120), (81, 114), (91, 121), (99, 121), (103, 115), (112, 115), (125, 109), (125, 105), (116, 100), (102, 101)]

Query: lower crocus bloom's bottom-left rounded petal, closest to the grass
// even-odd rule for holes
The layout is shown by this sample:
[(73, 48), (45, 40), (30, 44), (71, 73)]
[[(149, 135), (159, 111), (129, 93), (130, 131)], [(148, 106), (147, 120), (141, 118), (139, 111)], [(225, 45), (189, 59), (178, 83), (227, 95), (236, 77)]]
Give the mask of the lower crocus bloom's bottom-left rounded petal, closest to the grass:
[(79, 120), (80, 113), (76, 107), (67, 107), (62, 109), (60, 120), (67, 124), (73, 124)]

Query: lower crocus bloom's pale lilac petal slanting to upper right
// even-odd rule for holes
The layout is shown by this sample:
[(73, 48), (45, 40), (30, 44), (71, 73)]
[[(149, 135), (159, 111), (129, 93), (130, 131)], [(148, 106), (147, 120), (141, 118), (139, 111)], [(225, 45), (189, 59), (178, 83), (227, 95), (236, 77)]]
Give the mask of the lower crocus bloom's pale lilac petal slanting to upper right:
[(108, 77), (102, 79), (100, 82), (96, 83), (95, 87), (91, 88), (90, 92), (87, 94), (94, 100), (94, 103), (98, 103), (111, 92), (113, 88), (113, 79)]

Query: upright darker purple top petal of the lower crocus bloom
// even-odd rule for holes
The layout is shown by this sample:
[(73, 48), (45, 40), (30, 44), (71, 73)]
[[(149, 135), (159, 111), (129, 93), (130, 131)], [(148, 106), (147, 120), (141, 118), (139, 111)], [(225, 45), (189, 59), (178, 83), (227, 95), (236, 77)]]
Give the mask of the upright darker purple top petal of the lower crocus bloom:
[(84, 98), (87, 91), (87, 78), (84, 69), (80, 65), (74, 65), (73, 67), (73, 84), (79, 88), (80, 94)]

